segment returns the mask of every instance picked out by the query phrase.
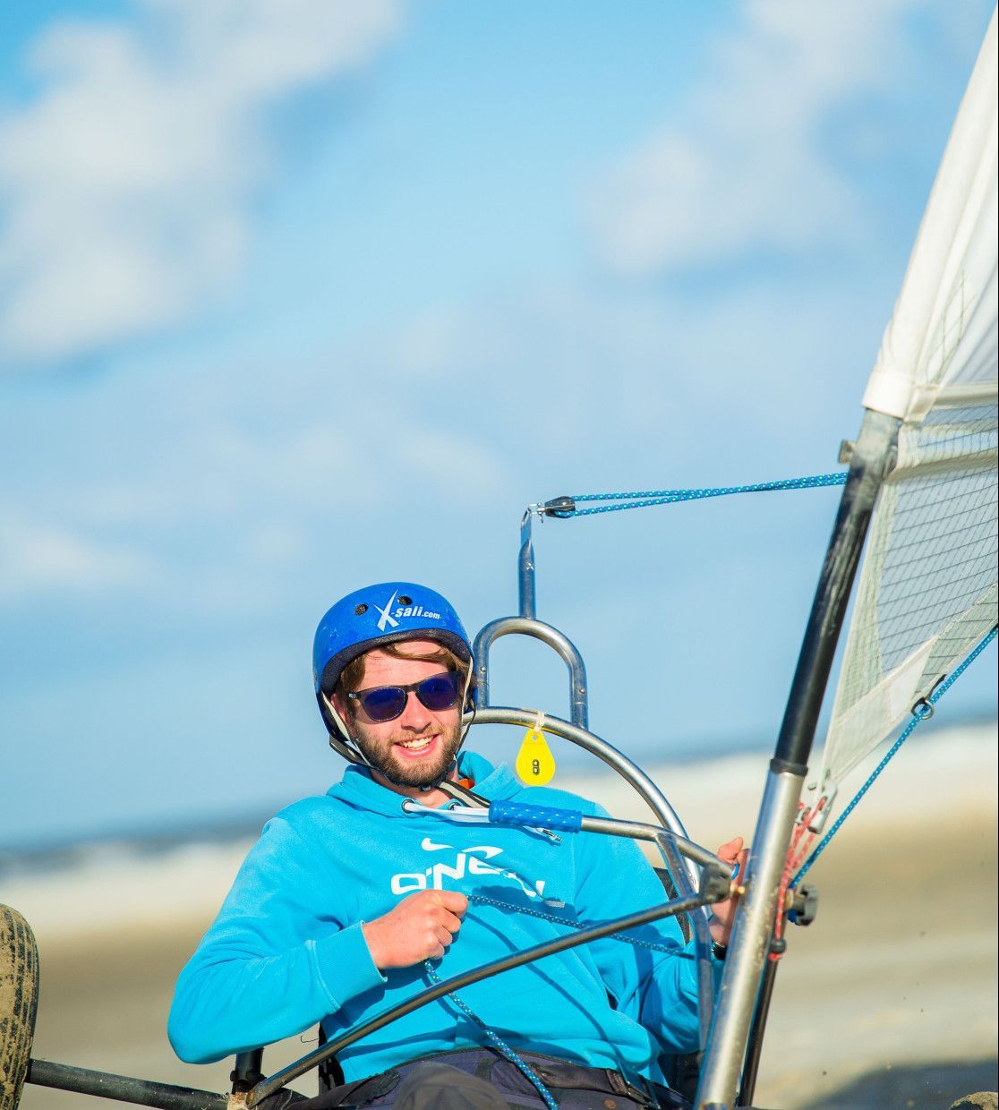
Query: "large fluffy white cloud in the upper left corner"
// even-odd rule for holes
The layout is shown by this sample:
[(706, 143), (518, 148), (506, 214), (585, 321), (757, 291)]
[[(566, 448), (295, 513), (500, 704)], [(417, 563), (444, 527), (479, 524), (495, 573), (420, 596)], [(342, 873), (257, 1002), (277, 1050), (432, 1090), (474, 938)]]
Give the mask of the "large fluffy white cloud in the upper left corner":
[(60, 359), (176, 324), (238, 278), (268, 111), (367, 61), (397, 0), (144, 0), (53, 26), (0, 118), (0, 344)]

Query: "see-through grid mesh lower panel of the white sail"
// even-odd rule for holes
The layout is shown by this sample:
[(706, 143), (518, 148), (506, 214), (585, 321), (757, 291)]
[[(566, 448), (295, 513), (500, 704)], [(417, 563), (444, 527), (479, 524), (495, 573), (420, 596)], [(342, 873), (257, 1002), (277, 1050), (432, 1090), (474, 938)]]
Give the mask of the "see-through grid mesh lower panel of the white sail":
[(824, 753), (842, 777), (997, 620), (997, 413), (939, 406), (899, 432), (868, 535)]

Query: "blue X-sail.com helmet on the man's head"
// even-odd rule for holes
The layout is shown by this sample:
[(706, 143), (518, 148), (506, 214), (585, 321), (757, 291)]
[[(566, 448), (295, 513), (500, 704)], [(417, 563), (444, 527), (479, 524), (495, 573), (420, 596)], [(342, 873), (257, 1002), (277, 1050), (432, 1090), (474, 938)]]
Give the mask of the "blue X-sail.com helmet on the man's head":
[(315, 630), (312, 677), (323, 723), (342, 735), (327, 699), (359, 655), (401, 639), (434, 639), (471, 664), (472, 645), (451, 603), (414, 582), (382, 582), (341, 598)]

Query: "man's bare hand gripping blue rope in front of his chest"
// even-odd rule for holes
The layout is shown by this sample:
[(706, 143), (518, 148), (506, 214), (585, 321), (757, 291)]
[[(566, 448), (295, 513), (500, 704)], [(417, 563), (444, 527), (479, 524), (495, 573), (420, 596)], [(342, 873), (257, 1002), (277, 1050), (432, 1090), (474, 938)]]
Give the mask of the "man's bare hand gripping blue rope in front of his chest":
[(440, 959), (462, 927), (468, 899), (456, 890), (421, 890), (361, 926), (380, 971)]

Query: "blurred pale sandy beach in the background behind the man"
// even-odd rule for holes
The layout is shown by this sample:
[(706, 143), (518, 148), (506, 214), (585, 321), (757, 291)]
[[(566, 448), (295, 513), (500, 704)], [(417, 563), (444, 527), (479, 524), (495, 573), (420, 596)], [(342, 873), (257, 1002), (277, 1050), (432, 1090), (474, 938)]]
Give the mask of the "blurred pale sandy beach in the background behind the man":
[[(736, 831), (751, 837), (765, 769), (766, 759), (733, 757), (656, 777), (690, 836), (715, 847)], [(816, 865), (818, 918), (790, 930), (757, 1106), (946, 1110), (996, 1089), (996, 774), (995, 726), (914, 738)], [(616, 816), (644, 816), (606, 776), (559, 785), (598, 795)], [(245, 847), (8, 884), (0, 900), (32, 922), (41, 952), (33, 1054), (228, 1089), (229, 1062), (173, 1058), (165, 1020), (176, 972)], [(309, 1047), (296, 1038), (269, 1049), (265, 1069)], [(295, 1086), (314, 1090), (311, 1077)], [(31, 1086), (21, 1102), (112, 1104)]]

